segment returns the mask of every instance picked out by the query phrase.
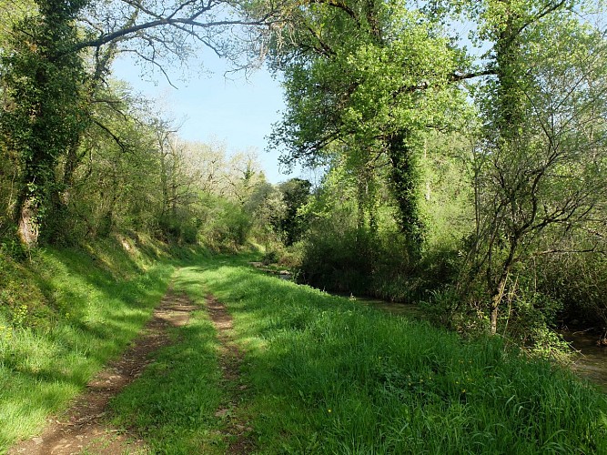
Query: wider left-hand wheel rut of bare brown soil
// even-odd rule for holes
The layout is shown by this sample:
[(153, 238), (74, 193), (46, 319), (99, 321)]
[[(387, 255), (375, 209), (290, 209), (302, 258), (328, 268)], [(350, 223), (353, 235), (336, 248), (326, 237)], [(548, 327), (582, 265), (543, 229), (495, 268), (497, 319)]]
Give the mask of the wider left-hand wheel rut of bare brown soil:
[(197, 309), (186, 296), (169, 288), (154, 311), (153, 318), (131, 342), (120, 359), (109, 363), (86, 386), (74, 405), (65, 413), (48, 420), (40, 436), (17, 444), (9, 454), (72, 455), (86, 453), (114, 455), (148, 453), (143, 440), (104, 423), (107, 402), (137, 379), (151, 362), (149, 355), (173, 343), (167, 335), (170, 326), (187, 325), (190, 313)]

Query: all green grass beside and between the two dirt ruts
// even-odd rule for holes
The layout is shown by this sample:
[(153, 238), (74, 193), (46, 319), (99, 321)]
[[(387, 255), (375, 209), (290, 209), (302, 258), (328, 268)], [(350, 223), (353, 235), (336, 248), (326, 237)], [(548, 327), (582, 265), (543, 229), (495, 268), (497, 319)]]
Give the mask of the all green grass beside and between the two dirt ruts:
[[(113, 254), (35, 258), (54, 322), (4, 329), (1, 448), (64, 407), (164, 292), (170, 266)], [(201, 308), (111, 403), (116, 426), (152, 451), (225, 453), (234, 418), (264, 454), (607, 453), (605, 395), (571, 373), (505, 351), (500, 339), (463, 341), (268, 277), (248, 259), (184, 259), (175, 274), (177, 292), (198, 304), (211, 292), (227, 305), (247, 389), (222, 384), (217, 333)], [(235, 399), (228, 419), (216, 416)]]

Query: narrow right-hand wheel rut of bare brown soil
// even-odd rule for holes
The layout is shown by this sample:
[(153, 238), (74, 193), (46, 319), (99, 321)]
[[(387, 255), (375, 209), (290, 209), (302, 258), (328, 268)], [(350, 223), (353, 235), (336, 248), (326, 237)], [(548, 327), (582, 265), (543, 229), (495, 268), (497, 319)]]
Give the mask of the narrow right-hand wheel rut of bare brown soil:
[(224, 435), (230, 440), (228, 452), (230, 454), (252, 453), (255, 444), (250, 438), (252, 429), (248, 422), (238, 416), (238, 402), (243, 399), (247, 386), (240, 383), (240, 366), (244, 354), (234, 343), (232, 338), (232, 317), (223, 303), (211, 295), (207, 296), (207, 309), (215, 329), (218, 331), (219, 366), (221, 368), (222, 383), (228, 390), (229, 401), (223, 403), (215, 416), (225, 420)]

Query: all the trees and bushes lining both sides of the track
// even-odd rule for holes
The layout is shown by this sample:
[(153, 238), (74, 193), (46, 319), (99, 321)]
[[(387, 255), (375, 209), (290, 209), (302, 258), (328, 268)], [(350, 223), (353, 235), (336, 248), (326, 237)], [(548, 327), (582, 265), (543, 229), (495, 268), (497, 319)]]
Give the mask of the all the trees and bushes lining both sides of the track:
[[(604, 261), (586, 267), (582, 256), (604, 251), (607, 235), (607, 59), (592, 21), (604, 5), (282, 5), (269, 54), (288, 106), (272, 142), (287, 147), (288, 165), (328, 166), (313, 197), (306, 180), (270, 185), (250, 153), (179, 140), (155, 106), (108, 82), (120, 44), (86, 31), (112, 23), (110, 4), (91, 8), (88, 24), (78, 22), (86, 0), (0, 11), (10, 5), (0, 29), (0, 254), (26, 258), (15, 239), (39, 234), (63, 246), (132, 230), (218, 250), (253, 240), (319, 288), (424, 298), (454, 329), (484, 327), (484, 311), (493, 332), (550, 344), (557, 302), (568, 319), (607, 325)], [(132, 24), (162, 16), (150, 13), (155, 2), (140, 6), (126, 6), (139, 8)], [(266, 6), (248, 5), (262, 15)], [(488, 49), (481, 59), (451, 18), (472, 25), (470, 39)], [(158, 34), (147, 25), (136, 28), (151, 62), (162, 46), (162, 56), (187, 54), (167, 24)], [(7, 289), (15, 327), (47, 319)]]

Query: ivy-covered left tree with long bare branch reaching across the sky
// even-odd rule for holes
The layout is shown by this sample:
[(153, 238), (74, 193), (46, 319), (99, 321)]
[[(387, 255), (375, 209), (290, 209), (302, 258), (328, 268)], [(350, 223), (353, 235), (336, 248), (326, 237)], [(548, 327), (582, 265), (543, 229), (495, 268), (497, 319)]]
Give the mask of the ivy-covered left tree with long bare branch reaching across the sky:
[[(91, 121), (91, 95), (117, 52), (134, 52), (161, 71), (163, 63), (186, 58), (195, 45), (224, 56), (223, 30), (262, 25), (273, 14), (269, 8), (252, 20), (246, 2), (36, 0), (35, 5), (13, 25), (0, 63), (3, 153), (19, 169), (15, 222), (28, 246), (35, 245), (41, 230), (47, 239), (54, 234), (47, 221), (64, 205), (61, 194)], [(61, 157), (67, 157), (63, 182), (55, 172)]]

